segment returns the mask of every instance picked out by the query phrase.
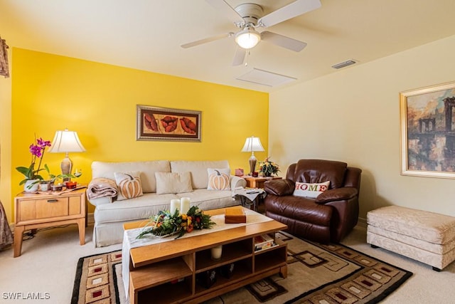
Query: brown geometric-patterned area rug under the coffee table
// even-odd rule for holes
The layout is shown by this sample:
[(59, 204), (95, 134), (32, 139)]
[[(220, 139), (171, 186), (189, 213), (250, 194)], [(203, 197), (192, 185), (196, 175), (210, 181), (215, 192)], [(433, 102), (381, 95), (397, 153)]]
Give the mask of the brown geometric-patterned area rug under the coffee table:
[[(205, 303), (378, 303), (412, 276), (341, 244), (304, 241), (282, 231), (276, 238), (287, 243), (287, 278), (270, 276)], [(122, 251), (79, 259), (71, 303), (128, 303)]]

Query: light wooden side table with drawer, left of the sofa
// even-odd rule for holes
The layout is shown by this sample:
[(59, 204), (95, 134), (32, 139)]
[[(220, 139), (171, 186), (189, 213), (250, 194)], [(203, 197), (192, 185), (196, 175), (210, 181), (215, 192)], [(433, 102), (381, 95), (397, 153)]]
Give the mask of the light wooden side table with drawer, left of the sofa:
[(23, 231), (31, 229), (77, 224), (80, 245), (84, 245), (86, 210), (85, 189), (18, 194), (14, 198), (14, 257), (21, 256)]

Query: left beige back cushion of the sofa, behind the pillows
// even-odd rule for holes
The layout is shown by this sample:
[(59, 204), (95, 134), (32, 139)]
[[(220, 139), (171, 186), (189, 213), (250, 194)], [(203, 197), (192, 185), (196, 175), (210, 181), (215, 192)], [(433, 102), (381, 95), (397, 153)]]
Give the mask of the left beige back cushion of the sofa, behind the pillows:
[(106, 177), (115, 179), (114, 172), (140, 171), (142, 191), (156, 192), (155, 172), (171, 172), (168, 160), (151, 162), (92, 162), (92, 179)]

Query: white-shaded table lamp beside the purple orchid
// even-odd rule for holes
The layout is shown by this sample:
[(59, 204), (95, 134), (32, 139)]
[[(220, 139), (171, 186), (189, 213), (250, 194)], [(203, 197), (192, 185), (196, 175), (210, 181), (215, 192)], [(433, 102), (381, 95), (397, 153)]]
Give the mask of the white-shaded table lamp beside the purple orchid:
[(60, 164), (62, 169), (62, 174), (71, 174), (71, 169), (73, 168), (73, 162), (71, 162), (70, 157), (68, 157), (68, 152), (84, 152), (85, 148), (80, 143), (77, 132), (68, 131), (65, 129), (63, 131), (55, 132), (52, 145), (50, 146), (50, 153), (65, 153), (65, 158)]

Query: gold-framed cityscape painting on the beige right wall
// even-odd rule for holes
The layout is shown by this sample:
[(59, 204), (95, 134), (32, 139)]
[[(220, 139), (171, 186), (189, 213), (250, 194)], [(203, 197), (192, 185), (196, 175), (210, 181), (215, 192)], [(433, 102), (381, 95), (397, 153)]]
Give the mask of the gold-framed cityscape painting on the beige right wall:
[(455, 82), (400, 93), (401, 174), (455, 178)]

